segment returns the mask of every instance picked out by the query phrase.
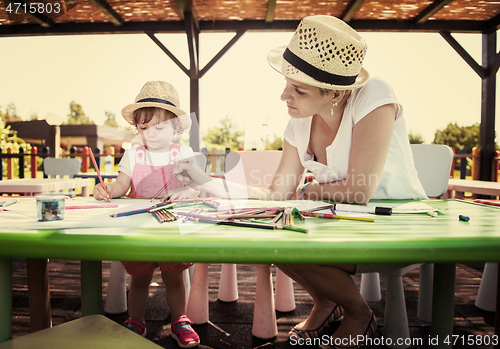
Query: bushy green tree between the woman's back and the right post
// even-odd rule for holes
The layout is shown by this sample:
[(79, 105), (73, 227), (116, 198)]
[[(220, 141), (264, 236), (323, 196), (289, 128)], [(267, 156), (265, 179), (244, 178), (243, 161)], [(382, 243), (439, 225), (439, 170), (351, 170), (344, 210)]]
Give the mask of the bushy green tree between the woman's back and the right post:
[(479, 146), (479, 124), (458, 126), (456, 123), (449, 123), (444, 130), (436, 131), (432, 143), (455, 148), (456, 154), (464, 147), (468, 153), (472, 153), (472, 148)]

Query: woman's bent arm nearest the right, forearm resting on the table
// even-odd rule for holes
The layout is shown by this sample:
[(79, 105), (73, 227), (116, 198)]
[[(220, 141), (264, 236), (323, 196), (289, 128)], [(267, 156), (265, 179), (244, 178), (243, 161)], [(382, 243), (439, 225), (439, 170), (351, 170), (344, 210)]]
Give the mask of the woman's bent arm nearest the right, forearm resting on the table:
[(366, 204), (375, 193), (391, 144), (395, 104), (386, 104), (367, 114), (353, 128), (347, 178), (311, 184), (305, 196), (311, 200)]

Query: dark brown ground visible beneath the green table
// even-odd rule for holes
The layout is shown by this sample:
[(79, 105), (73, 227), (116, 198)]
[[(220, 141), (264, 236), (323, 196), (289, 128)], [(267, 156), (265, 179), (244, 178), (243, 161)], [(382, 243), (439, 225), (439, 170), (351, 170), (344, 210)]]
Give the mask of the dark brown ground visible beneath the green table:
[[(78, 261), (51, 260), (50, 287), (53, 324), (57, 325), (81, 316), (80, 303), (80, 263)], [(103, 263), (103, 291), (105, 294), (109, 274), (109, 262)], [(494, 332), (494, 313), (482, 311), (475, 305), (475, 297), (481, 280), (484, 264), (458, 264), (455, 296), (454, 335), (467, 338), (468, 335), (492, 336)], [(26, 265), (23, 259), (14, 260), (14, 319), (13, 336), (19, 337), (29, 333), (28, 295), (26, 287)], [(289, 313), (277, 312), (278, 336), (273, 340), (260, 340), (252, 336), (253, 303), (255, 295), (256, 268), (238, 265), (239, 300), (234, 303), (223, 303), (217, 300), (217, 289), (220, 265), (211, 265), (209, 269), (209, 301), (210, 323), (195, 326), (201, 338), (201, 349), (291, 349), (296, 348), (287, 341), (290, 327), (302, 321), (312, 308), (309, 296), (295, 285), (297, 307)], [(417, 318), (418, 269), (404, 277), (406, 306), (411, 337), (421, 339), (423, 344), (415, 344), (410, 348), (429, 348), (429, 323)], [(359, 278), (355, 280), (359, 282)], [(169, 337), (170, 313), (166, 305), (164, 287), (161, 278), (155, 275), (155, 286), (151, 287), (146, 323), (147, 338), (163, 348), (179, 348)], [(379, 323), (379, 331), (375, 338), (381, 339), (384, 333), (384, 298), (385, 279), (381, 277), (382, 300), (370, 302)], [(110, 315), (109, 318), (122, 323), (127, 314)], [(333, 331), (330, 328), (329, 331)], [(465, 337), (464, 337), (465, 336)], [(382, 348), (374, 345), (368, 348)], [(493, 346), (456, 345), (454, 348), (492, 348)], [(314, 348), (313, 346), (305, 348)]]

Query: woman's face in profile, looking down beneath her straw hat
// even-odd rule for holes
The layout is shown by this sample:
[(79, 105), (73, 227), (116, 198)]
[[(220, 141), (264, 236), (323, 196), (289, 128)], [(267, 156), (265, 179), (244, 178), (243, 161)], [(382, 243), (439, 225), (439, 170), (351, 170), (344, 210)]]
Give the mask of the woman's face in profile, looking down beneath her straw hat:
[(315, 114), (330, 114), (332, 94), (322, 94), (316, 86), (311, 86), (285, 78), (286, 86), (281, 100), (286, 102), (288, 114), (292, 118), (306, 118)]

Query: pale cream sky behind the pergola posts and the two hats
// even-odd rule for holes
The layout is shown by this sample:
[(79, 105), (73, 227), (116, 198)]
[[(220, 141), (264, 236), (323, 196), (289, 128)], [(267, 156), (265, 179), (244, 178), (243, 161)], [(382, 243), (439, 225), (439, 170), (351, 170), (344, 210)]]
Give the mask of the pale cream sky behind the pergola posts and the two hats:
[[(200, 80), (200, 127), (220, 126), (231, 117), (245, 132), (245, 148), (281, 137), (288, 122), (280, 100), (284, 78), (267, 63), (268, 52), (287, 45), (292, 32), (247, 32)], [(407, 131), (431, 143), (448, 123), (480, 122), (481, 79), (437, 33), (360, 32), (368, 43), (364, 67), (392, 85), (403, 105)], [(200, 35), (200, 67), (232, 38)], [(481, 35), (453, 34), (481, 63)], [(189, 67), (185, 34), (158, 39)], [(75, 101), (97, 124), (133, 103), (145, 82), (165, 80), (179, 91), (189, 112), (189, 78), (146, 34), (0, 38), (0, 109), (14, 103), (17, 114), (58, 124)], [(500, 89), (497, 89), (497, 100)], [(499, 113), (497, 103), (497, 114)], [(499, 134), (500, 123), (496, 123)], [(498, 141), (498, 138), (496, 139)]]

